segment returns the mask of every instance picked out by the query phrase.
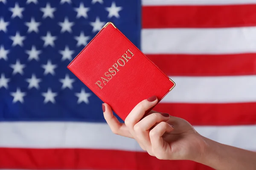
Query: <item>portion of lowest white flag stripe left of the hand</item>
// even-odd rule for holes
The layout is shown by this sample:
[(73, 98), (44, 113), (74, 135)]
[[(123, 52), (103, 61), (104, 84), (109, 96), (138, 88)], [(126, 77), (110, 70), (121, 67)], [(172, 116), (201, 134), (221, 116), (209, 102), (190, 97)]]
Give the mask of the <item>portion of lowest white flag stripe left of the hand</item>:
[(101, 123), (1, 122), (0, 139), (0, 147), (136, 149), (132, 139)]

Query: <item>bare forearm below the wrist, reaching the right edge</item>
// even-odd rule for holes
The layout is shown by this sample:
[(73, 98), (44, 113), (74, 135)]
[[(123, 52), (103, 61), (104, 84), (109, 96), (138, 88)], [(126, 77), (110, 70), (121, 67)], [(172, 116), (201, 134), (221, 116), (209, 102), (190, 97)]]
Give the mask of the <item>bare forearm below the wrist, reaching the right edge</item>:
[(203, 138), (207, 147), (195, 161), (216, 170), (256, 170), (256, 152)]

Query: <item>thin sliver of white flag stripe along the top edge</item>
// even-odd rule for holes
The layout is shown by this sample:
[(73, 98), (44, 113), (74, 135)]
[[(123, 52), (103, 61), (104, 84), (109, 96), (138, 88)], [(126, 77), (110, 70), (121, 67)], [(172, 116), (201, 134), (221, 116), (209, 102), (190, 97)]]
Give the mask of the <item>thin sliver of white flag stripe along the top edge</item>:
[(143, 6), (256, 4), (255, 0), (142, 0)]

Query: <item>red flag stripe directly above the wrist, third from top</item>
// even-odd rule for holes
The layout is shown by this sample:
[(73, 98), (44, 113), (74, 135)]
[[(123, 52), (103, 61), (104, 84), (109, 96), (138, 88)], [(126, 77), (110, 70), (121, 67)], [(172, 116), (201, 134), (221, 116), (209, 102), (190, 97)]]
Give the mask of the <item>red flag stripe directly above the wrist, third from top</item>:
[(154, 111), (170, 113), (192, 125), (255, 125), (256, 102), (225, 104), (159, 103)]

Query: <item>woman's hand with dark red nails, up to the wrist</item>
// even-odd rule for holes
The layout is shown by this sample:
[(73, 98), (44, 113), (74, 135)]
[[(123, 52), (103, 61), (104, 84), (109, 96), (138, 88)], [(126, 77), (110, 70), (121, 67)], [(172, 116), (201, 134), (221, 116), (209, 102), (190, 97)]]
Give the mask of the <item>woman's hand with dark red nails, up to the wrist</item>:
[(102, 109), (113, 133), (135, 139), (151, 156), (158, 159), (199, 159), (206, 147), (204, 138), (184, 119), (155, 111), (145, 115), (145, 111), (156, 104), (155, 96), (138, 103), (125, 123), (113, 116), (108, 104), (103, 104)]

